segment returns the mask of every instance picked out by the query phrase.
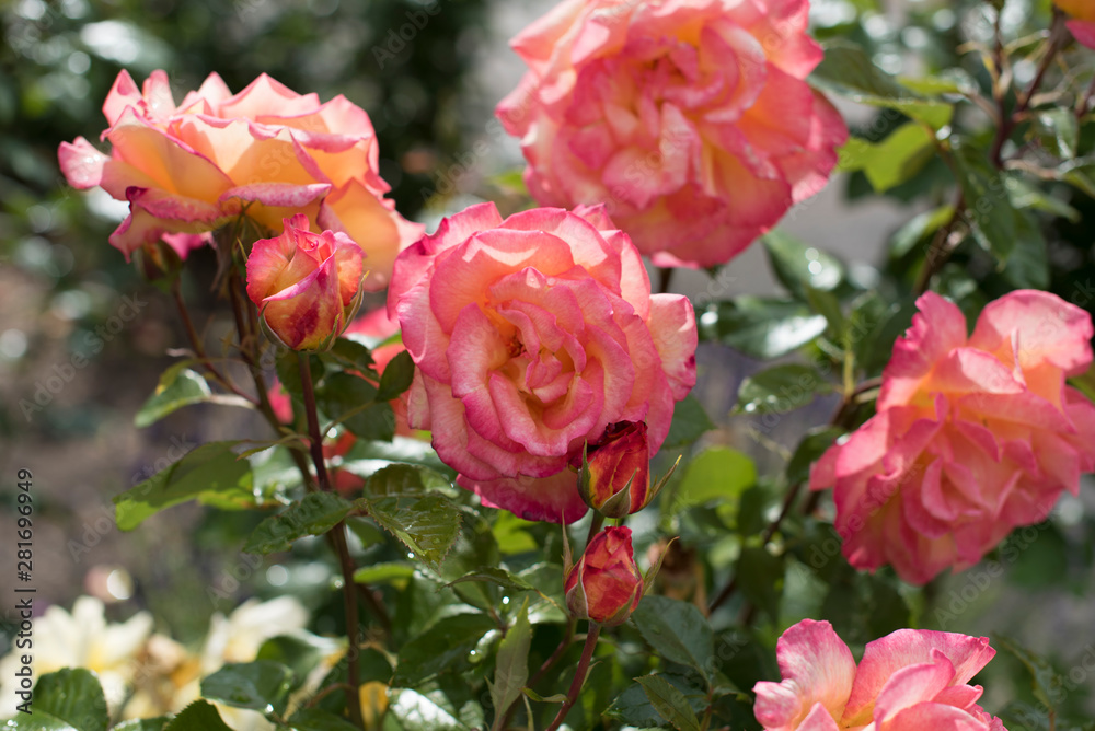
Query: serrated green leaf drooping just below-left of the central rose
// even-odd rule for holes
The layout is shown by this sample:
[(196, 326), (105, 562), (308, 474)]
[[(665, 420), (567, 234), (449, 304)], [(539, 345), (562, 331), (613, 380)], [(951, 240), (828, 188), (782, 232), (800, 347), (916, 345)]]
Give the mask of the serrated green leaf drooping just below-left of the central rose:
[(449, 498), (427, 488), (449, 485), (433, 469), (391, 465), (366, 480), (358, 506), (436, 571), (460, 535), (461, 511)]

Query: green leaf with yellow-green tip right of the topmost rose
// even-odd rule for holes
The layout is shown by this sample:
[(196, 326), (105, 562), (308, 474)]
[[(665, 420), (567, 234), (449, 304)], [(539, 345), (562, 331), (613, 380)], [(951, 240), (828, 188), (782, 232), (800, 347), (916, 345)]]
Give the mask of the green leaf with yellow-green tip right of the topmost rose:
[(932, 129), (942, 129), (954, 115), (950, 104), (926, 98), (902, 86), (879, 69), (861, 47), (845, 40), (826, 44), (825, 59), (809, 81), (823, 92), (860, 104), (897, 109)]

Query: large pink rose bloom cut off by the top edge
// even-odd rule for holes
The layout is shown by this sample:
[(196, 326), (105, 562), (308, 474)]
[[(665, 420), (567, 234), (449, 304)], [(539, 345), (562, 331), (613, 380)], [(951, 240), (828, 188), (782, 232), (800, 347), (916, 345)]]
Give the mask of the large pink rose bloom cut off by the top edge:
[(659, 266), (728, 262), (820, 190), (848, 128), (804, 81), (808, 0), (566, 0), (496, 114), (542, 206), (607, 202)]

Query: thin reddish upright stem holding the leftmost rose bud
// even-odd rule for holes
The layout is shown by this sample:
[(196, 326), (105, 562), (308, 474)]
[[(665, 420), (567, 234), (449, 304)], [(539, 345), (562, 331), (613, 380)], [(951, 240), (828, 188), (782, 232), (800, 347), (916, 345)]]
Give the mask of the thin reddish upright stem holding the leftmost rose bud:
[[(310, 437), (310, 450), (312, 462), (315, 464), (315, 475), (320, 480), (320, 489), (324, 492), (331, 491), (331, 479), (327, 475), (326, 461), (323, 459), (323, 434), (320, 433), (320, 419), (315, 411), (315, 392), (312, 388), (312, 370), (307, 352), (298, 352), (300, 361), (300, 385), (303, 391), (304, 415), (308, 418), (308, 434)], [(360, 687), (360, 672), (358, 669), (358, 652), (361, 640), (357, 626), (357, 584), (354, 582), (354, 559), (350, 558), (349, 547), (346, 545), (346, 522), (339, 521), (327, 534), (338, 555), (338, 564), (343, 573), (343, 604), (346, 611), (346, 635), (349, 639), (347, 650), (346, 672), (349, 680), (350, 689), (346, 692), (346, 707), (349, 710), (350, 720), (360, 729), (365, 728), (365, 717), (361, 715), (361, 698), (357, 693)]]

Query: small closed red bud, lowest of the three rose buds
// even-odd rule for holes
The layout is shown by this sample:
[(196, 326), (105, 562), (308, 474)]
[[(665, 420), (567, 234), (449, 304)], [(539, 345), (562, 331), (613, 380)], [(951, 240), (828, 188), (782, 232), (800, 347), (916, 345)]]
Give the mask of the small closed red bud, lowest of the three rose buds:
[(631, 529), (599, 533), (563, 581), (566, 605), (578, 619), (606, 627), (623, 624), (643, 599), (643, 575), (635, 565)]

